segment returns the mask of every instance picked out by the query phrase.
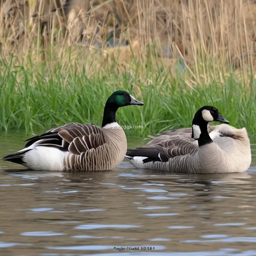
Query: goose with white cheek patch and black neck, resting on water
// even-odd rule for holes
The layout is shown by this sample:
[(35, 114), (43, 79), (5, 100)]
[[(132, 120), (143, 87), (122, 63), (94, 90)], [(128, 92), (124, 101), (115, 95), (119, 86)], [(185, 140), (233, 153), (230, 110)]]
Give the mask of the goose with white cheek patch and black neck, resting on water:
[[(211, 121), (223, 124), (207, 126)], [(204, 106), (196, 112), (192, 129), (152, 137), (145, 146), (129, 149), (126, 157), (136, 168), (198, 174), (245, 172), (251, 163), (247, 131), (227, 123), (218, 109)]]

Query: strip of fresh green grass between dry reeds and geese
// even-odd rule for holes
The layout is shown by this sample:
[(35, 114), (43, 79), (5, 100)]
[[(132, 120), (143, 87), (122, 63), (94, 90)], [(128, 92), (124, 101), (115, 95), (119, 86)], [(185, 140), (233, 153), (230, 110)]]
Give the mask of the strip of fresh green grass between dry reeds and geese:
[(173, 73), (156, 62), (146, 62), (143, 69), (134, 61), (130, 70), (99, 67), (89, 74), (88, 64), (79, 63), (73, 69), (61, 64), (49, 67), (47, 62), (29, 67), (1, 62), (0, 131), (31, 133), (69, 122), (101, 125), (108, 96), (115, 90), (127, 90), (145, 105), (117, 111), (120, 125), (143, 125), (143, 129), (125, 130), (126, 135), (145, 137), (189, 127), (195, 111), (203, 105), (217, 107), (230, 125), (245, 126), (250, 134), (256, 134), (253, 77), (250, 91), (245, 79), (236, 78), (232, 72), (222, 82), (211, 78), (206, 84), (202, 79), (191, 88), (188, 82), (195, 84), (197, 79), (191, 70), (181, 70), (179, 65)]

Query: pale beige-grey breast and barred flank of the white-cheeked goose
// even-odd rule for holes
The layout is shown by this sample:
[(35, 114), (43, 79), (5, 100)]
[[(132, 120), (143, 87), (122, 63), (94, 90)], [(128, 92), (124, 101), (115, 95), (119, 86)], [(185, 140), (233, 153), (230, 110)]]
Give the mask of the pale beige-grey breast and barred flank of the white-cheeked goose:
[[(222, 137), (198, 147), (194, 143), (181, 140), (183, 151), (168, 162), (145, 163), (144, 168), (182, 173), (227, 173), (245, 172), (251, 163), (250, 141), (245, 128), (236, 129), (222, 124), (218, 127)], [(225, 137), (227, 136), (227, 137)], [(178, 147), (178, 145), (177, 145)], [(170, 154), (171, 148), (165, 149)]]

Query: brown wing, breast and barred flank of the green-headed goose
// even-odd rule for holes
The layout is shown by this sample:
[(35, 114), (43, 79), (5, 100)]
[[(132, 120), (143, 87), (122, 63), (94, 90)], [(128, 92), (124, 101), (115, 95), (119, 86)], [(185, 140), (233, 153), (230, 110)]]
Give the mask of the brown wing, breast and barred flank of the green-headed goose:
[(119, 125), (101, 128), (68, 123), (27, 141), (25, 148), (39, 141), (37, 145), (67, 149), (63, 159), (64, 171), (112, 170), (123, 160), (127, 149), (126, 136)]

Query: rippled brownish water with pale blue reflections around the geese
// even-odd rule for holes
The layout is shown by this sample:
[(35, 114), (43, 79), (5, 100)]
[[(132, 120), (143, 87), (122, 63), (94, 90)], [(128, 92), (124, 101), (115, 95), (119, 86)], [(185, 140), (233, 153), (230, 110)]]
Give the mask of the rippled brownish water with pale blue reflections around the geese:
[[(1, 135), (0, 157), (27, 137)], [(0, 161), (1, 255), (256, 255), (255, 144), (252, 154), (247, 172), (215, 175), (128, 162), (110, 172), (40, 172)]]

